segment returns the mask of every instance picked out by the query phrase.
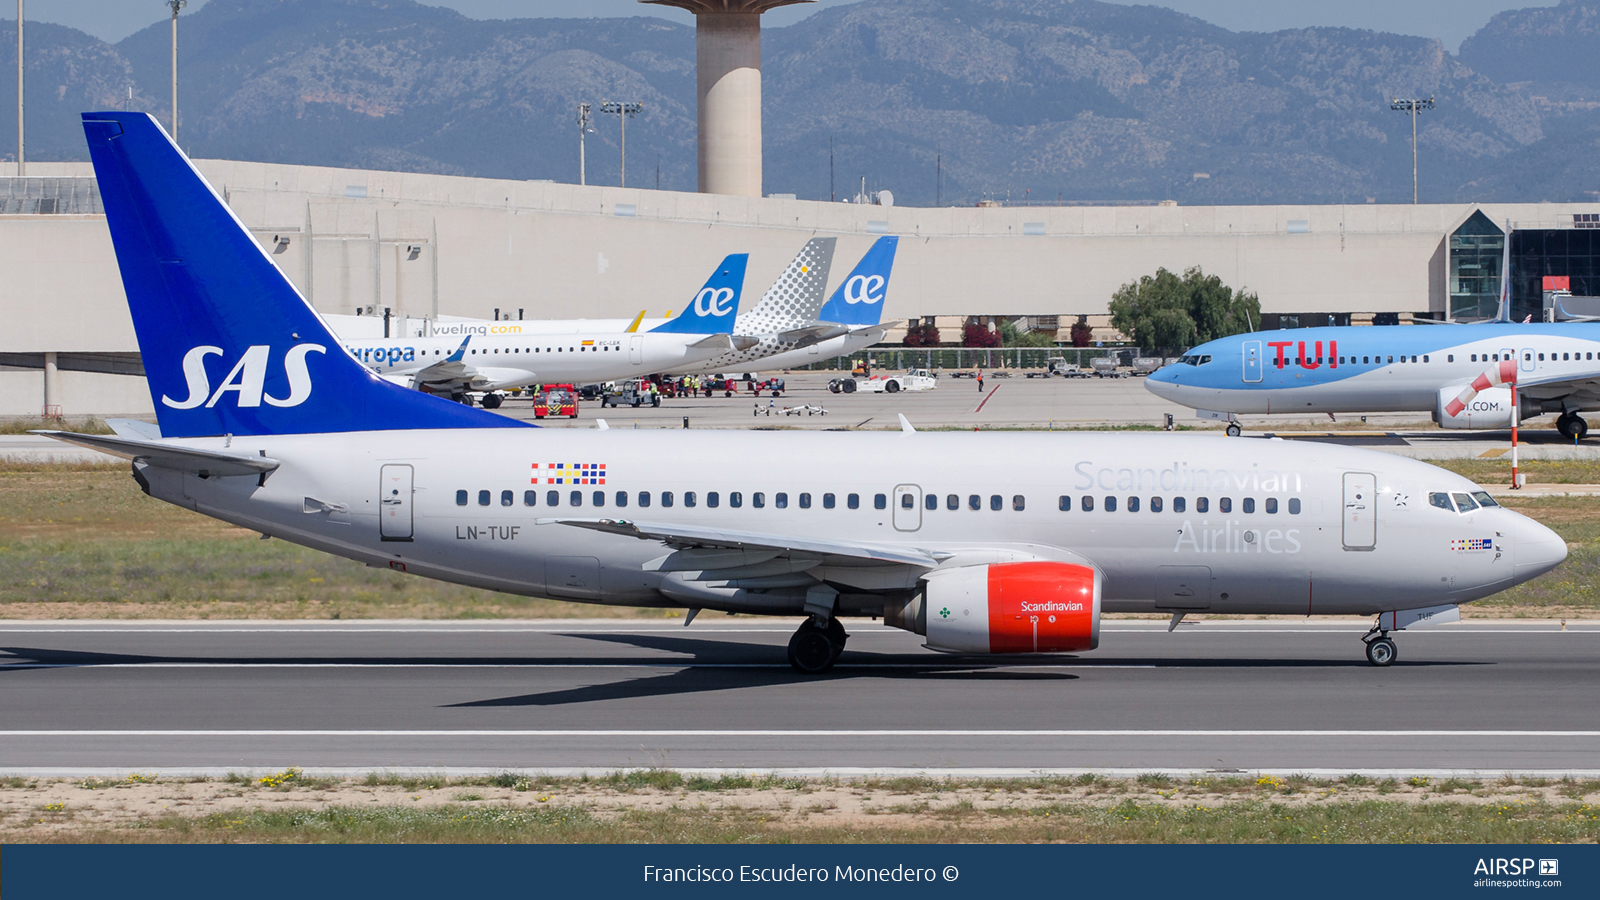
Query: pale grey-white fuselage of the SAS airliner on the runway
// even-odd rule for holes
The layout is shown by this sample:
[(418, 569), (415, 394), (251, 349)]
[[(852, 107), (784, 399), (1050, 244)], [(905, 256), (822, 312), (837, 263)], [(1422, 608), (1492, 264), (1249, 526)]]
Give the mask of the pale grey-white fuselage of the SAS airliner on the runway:
[[(224, 439), (184, 444), (219, 448)], [(1554, 532), (1509, 509), (1430, 506), (1430, 492), (1477, 490), (1443, 469), (1349, 447), (1251, 448), (1242, 455), (1237, 442), (1210, 436), (395, 431), (234, 437), (234, 453), (282, 463), (264, 484), (141, 471), (157, 498), (373, 565), (624, 605), (680, 605), (661, 591), (667, 575), (650, 565), (670, 551), (558, 520), (904, 546), (949, 567), (1086, 560), (1104, 573), (1107, 612), (1416, 609), (1485, 597), (1565, 557)], [(718, 463), (726, 460), (781, 463)], [(410, 493), (381, 495), (395, 484)], [(1374, 519), (1352, 525), (1350, 503)], [(832, 565), (814, 572), (867, 594), (914, 588), (925, 573)], [(1195, 572), (1208, 577), (1208, 597), (1173, 596), (1170, 577), (1192, 583)], [(798, 602), (762, 605), (757, 594), (725, 605), (800, 612)], [(858, 599), (854, 609), (872, 607)]]

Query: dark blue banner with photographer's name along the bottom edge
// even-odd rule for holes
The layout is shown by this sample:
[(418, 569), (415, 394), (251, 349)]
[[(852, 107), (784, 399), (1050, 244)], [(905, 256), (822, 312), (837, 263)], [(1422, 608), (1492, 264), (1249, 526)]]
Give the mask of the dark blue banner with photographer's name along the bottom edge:
[(30, 846), (5, 900), (1595, 897), (1597, 846)]

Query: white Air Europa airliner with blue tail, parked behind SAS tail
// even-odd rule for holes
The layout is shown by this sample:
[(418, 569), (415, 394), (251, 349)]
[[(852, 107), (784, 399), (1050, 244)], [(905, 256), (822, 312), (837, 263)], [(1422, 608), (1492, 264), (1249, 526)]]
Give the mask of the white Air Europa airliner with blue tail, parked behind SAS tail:
[(530, 335), (515, 322), (494, 322), (485, 328), (488, 333), (461, 340), (373, 338), (344, 346), (390, 381), (458, 402), (470, 402), (472, 392), (482, 392), (483, 405), (491, 410), (501, 405), (501, 391), (525, 384), (584, 384), (675, 372), (758, 343), (731, 335), (747, 259), (746, 253), (723, 259), (678, 317), (648, 331)]

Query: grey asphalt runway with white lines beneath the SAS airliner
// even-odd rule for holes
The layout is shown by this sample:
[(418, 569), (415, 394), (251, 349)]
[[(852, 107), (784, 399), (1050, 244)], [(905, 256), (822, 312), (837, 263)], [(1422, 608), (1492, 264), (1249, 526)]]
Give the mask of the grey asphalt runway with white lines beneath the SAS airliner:
[(1109, 621), (1075, 657), (960, 658), (870, 623), (0, 623), (0, 772), (1600, 770), (1600, 625)]

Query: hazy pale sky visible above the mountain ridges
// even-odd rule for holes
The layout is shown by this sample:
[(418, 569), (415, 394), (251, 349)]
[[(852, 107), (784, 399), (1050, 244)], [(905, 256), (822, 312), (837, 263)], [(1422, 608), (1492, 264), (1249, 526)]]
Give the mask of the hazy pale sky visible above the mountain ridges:
[[(523, 16), (662, 16), (690, 22), (688, 13), (645, 6), (637, 0), (424, 0), (450, 6), (478, 19)], [(766, 14), (771, 26), (803, 19), (822, 6), (838, 6), (853, 0), (821, 0), (787, 6)], [(1117, 2), (1117, 0), (1112, 0)], [(194, 11), (205, 0), (190, 0)], [(1451, 51), (1490, 16), (1502, 10), (1554, 6), (1554, 0), (1166, 0), (1155, 3), (1198, 16), (1232, 30), (1280, 30), (1307, 26), (1346, 26), (1437, 37)], [(11, 16), (10, 3), (0, 11)], [(166, 18), (163, 0), (27, 0), (27, 18), (59, 22), (86, 30), (104, 40), (123, 37)]]

